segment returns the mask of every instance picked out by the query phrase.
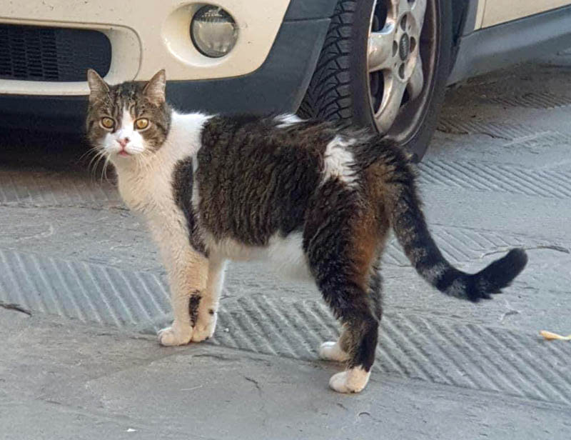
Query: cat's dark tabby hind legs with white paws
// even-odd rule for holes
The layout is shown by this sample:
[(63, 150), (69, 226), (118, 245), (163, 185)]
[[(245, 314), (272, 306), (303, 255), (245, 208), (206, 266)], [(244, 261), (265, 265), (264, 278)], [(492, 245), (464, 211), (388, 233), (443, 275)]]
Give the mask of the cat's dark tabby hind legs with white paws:
[(339, 341), (320, 347), (323, 358), (347, 363), (345, 371), (329, 381), (332, 389), (342, 393), (357, 393), (367, 385), (380, 318), (380, 299), (373, 300), (370, 282), (382, 231), (375, 211), (351, 203), (351, 197), (337, 193), (336, 203), (328, 204), (334, 209), (324, 206), (327, 199), (321, 200), (323, 210), (315, 206), (304, 240), (318, 289), (343, 326)]

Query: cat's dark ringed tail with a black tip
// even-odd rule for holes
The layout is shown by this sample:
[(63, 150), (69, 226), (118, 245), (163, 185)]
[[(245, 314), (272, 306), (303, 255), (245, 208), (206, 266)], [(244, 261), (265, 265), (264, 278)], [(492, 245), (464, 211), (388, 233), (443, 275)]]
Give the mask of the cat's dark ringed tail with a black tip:
[(418, 198), (415, 175), (408, 164), (399, 164), (400, 173), (390, 173), (385, 181), (389, 190), (385, 202), (398, 241), (414, 268), (426, 281), (444, 294), (470, 301), (490, 298), (520, 274), (527, 264), (523, 249), (512, 249), (477, 274), (455, 269), (436, 246), (426, 226)]

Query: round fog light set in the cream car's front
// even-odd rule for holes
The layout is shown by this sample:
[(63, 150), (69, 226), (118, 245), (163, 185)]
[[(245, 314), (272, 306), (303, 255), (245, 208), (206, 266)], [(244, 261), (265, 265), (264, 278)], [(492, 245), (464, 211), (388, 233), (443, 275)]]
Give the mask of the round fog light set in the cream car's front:
[(202, 6), (191, 23), (191, 38), (201, 54), (220, 58), (232, 50), (238, 39), (238, 26), (219, 6)]

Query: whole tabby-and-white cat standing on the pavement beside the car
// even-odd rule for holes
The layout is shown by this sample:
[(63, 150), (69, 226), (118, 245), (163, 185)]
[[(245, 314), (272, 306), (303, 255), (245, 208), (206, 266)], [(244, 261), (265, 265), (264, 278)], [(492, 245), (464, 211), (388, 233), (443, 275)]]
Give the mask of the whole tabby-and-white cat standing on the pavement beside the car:
[(330, 387), (359, 392), (374, 362), (390, 229), (418, 274), (460, 299), (490, 298), (527, 263), (512, 249), (477, 274), (451, 266), (427, 229), (413, 166), (386, 136), (295, 115), (181, 114), (166, 102), (164, 71), (110, 86), (89, 70), (88, 82), (88, 139), (166, 266), (165, 346), (213, 336), (226, 260), (264, 259), (315, 281), (343, 328), (319, 348), (346, 364)]

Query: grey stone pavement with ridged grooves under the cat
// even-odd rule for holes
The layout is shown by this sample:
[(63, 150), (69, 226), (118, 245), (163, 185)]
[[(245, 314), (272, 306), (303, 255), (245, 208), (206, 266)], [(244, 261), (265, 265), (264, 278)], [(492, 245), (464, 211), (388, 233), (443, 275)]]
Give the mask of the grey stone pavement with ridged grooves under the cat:
[[(327, 387), (337, 326), (312, 286), (232, 264), (206, 344), (164, 348), (156, 249), (69, 138), (0, 147), (0, 439), (568, 439), (571, 54), (448, 93), (419, 167), (445, 255), (530, 263), (474, 305), (430, 289), (392, 243), (368, 388)], [(28, 312), (28, 313), (25, 313)]]

